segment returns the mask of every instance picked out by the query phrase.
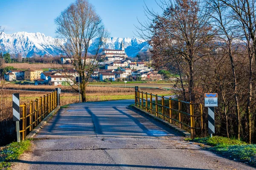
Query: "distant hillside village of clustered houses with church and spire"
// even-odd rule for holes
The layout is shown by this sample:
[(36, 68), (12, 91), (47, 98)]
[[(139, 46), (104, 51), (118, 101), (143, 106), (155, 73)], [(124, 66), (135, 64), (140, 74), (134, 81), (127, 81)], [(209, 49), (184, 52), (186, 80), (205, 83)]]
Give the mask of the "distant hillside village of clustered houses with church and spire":
[[(98, 67), (90, 75), (90, 82), (93, 81), (157, 81), (162, 80), (160, 74), (157, 74), (150, 66), (148, 61), (137, 61), (128, 59), (125, 54), (123, 42), (119, 50), (103, 49), (99, 57), (101, 61), (93, 57), (81, 58), (82, 63), (87, 65), (96, 64)], [(61, 57), (63, 66), (70, 65), (72, 58)], [(87, 74), (87, 73), (86, 73)], [(27, 69), (27, 70), (9, 70), (4, 74), (6, 81), (28, 81), (35, 85), (72, 85), (79, 77), (76, 69)]]

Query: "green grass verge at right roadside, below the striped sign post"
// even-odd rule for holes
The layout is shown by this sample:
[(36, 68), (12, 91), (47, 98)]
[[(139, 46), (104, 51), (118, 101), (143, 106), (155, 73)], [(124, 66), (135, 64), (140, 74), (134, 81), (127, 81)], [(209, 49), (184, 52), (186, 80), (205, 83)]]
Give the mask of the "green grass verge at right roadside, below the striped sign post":
[(242, 161), (256, 167), (256, 144), (247, 144), (237, 139), (229, 139), (221, 136), (212, 138), (185, 139), (186, 141), (208, 144), (208, 150), (221, 153), (229, 159)]

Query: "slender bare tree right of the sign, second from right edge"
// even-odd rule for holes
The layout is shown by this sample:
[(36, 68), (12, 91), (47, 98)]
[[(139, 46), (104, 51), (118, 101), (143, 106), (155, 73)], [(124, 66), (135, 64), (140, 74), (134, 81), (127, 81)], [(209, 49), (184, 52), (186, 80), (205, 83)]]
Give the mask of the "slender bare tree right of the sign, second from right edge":
[(236, 106), (236, 124), (237, 124), (237, 137), (240, 139), (240, 111), (239, 111), (239, 93), (237, 90), (238, 82), (236, 76), (236, 67), (233, 54), (233, 46), (237, 45), (234, 39), (238, 39), (239, 34), (238, 25), (235, 24), (233, 17), (230, 17), (229, 10), (222, 0), (206, 0), (209, 7), (209, 16), (212, 18), (212, 25), (217, 29), (216, 41), (219, 42), (221, 49), (224, 49), (230, 58), (230, 65), (233, 74), (233, 96)]

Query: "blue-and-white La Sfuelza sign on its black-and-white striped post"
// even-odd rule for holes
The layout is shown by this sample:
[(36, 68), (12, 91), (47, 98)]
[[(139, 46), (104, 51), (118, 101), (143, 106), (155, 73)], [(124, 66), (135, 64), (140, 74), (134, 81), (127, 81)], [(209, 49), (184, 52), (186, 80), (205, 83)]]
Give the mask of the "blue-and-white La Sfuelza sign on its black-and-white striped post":
[(218, 107), (218, 94), (204, 94), (204, 106), (208, 107), (208, 132), (212, 138), (212, 134), (215, 133), (214, 108)]

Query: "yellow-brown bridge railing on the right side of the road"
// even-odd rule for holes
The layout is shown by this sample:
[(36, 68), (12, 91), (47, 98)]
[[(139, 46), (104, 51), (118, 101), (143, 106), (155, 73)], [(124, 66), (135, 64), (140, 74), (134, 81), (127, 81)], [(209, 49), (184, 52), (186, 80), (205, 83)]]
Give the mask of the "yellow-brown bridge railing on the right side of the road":
[(195, 130), (203, 129), (201, 103), (185, 102), (171, 97), (148, 94), (136, 88), (135, 105), (183, 130), (189, 131), (192, 139), (195, 137)]

